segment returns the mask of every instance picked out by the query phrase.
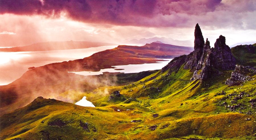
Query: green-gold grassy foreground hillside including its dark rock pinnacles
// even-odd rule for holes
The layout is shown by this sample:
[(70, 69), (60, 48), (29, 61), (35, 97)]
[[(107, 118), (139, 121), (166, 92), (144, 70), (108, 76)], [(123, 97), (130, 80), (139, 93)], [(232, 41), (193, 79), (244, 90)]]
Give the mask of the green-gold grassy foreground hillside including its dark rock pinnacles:
[(198, 24), (194, 44), (193, 52), (137, 82), (73, 92), (95, 108), (38, 97), (1, 116), (0, 137), (255, 139), (256, 71), (234, 55), (246, 48), (230, 49), (222, 35), (210, 48)]

